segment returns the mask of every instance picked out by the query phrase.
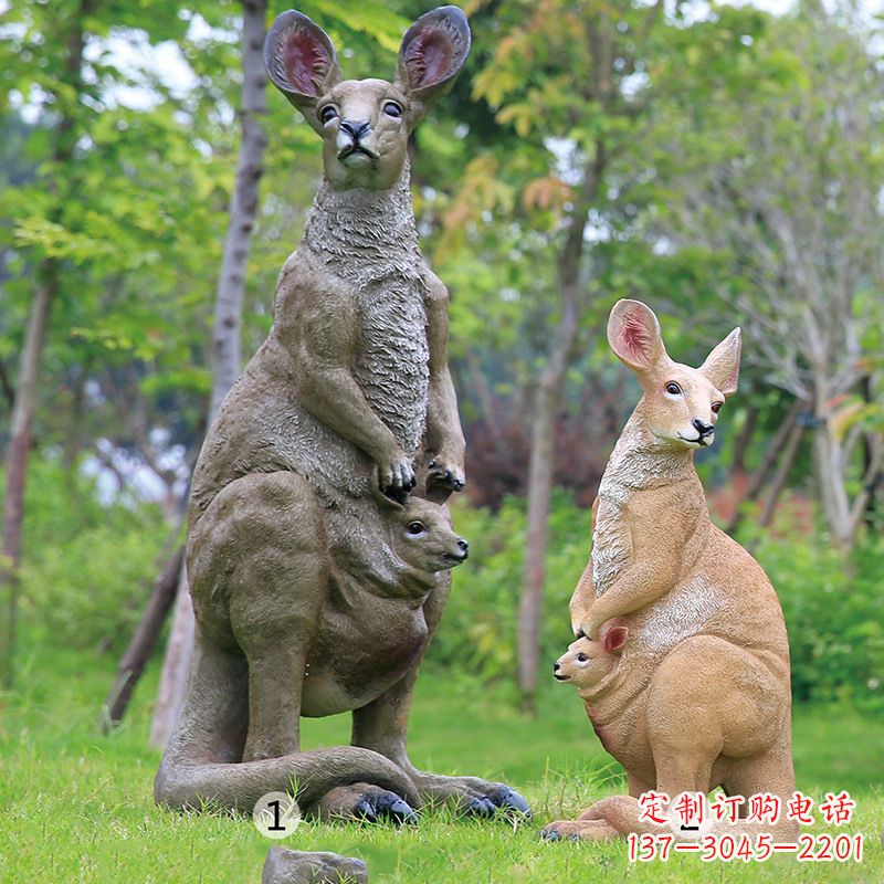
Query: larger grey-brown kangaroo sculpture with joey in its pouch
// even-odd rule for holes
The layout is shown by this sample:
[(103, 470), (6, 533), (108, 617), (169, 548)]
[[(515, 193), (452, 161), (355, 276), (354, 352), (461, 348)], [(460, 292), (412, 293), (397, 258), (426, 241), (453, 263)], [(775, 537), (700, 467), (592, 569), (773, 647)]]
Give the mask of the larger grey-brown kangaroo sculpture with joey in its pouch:
[[(194, 471), (197, 646), (155, 782), (167, 806), (250, 810), (296, 788), (325, 817), (403, 820), (425, 800), (527, 810), (502, 783), (408, 758), (414, 681), (450, 589), (440, 569), (466, 547), (431, 503), (376, 494), (401, 501), (420, 480), (444, 502), (464, 484), (448, 292), (420, 253), (407, 147), (469, 51), (454, 7), (408, 30), (392, 82), (341, 80), (328, 35), (294, 10), (267, 34), (270, 77), (322, 137), (325, 177), (273, 327)], [(301, 750), (302, 715), (343, 712), (350, 746)]]

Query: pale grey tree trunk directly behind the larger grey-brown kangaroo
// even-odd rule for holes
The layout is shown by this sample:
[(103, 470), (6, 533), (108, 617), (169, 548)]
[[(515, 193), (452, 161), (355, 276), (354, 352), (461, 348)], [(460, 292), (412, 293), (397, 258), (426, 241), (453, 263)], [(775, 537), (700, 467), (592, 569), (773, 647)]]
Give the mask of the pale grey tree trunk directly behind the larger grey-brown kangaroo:
[[(267, 144), (262, 117), (267, 113), (264, 36), (266, 0), (243, 0), (242, 29), (242, 141), (236, 183), (230, 206), (221, 275), (218, 281), (212, 339), (213, 375), (209, 424), (240, 375), (240, 320), (242, 316), (249, 249), (257, 213), (259, 182), (264, 171)], [(194, 622), (185, 570), (181, 571), (175, 622), (160, 675), (159, 696), (150, 728), (150, 741), (165, 747), (178, 719), (187, 690), (192, 656)]]

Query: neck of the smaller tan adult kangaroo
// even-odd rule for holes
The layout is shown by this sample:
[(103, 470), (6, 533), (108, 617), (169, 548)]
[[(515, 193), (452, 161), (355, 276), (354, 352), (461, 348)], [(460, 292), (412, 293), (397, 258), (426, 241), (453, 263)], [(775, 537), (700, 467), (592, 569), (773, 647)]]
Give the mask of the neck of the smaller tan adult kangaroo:
[(643, 406), (644, 399), (627, 421), (608, 461), (599, 494), (619, 497), (628, 491), (650, 491), (684, 480), (699, 482), (693, 449), (655, 436), (648, 428)]

